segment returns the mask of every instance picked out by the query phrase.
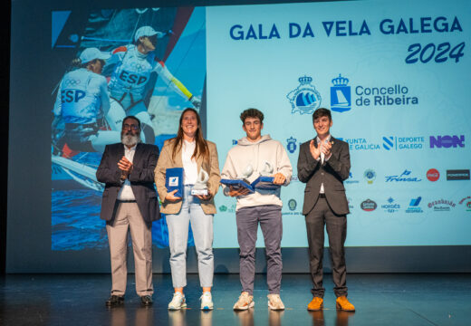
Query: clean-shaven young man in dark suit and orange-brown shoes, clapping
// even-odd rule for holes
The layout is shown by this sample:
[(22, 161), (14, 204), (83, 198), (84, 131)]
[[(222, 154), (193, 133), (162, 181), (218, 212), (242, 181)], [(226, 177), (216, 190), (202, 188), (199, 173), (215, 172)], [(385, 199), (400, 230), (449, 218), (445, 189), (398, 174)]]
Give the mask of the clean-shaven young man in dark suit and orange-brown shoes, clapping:
[(301, 145), (298, 158), (298, 178), (306, 184), (303, 215), (306, 219), (313, 285), (313, 298), (308, 304), (308, 310), (315, 312), (323, 307), (325, 289), (322, 286), (322, 256), (325, 225), (329, 235), (336, 306), (339, 310), (354, 312), (355, 307), (347, 299), (344, 249), (347, 214), (350, 211), (343, 180), (350, 173), (349, 145), (332, 137), (330, 110), (315, 110), (312, 113), (312, 123), (317, 136)]

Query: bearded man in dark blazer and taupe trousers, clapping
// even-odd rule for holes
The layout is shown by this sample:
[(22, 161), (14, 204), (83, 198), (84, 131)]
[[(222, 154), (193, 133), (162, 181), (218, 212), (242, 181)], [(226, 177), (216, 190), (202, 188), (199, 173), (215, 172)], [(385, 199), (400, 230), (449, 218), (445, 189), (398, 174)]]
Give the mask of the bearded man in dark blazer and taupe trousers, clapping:
[(124, 302), (128, 277), (126, 253), (130, 231), (136, 292), (143, 305), (152, 304), (152, 222), (160, 218), (154, 187), (154, 169), (159, 148), (140, 142), (140, 121), (129, 116), (122, 121), (121, 142), (107, 145), (97, 179), (105, 183), (101, 219), (111, 252), (111, 296), (107, 306)]

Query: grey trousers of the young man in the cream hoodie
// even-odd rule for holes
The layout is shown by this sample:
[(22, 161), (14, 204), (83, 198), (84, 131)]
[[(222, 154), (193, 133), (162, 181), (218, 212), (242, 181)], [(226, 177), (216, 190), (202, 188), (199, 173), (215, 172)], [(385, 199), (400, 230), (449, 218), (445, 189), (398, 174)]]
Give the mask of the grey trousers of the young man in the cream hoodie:
[(255, 244), (258, 224), (264, 235), (266, 283), (270, 294), (279, 294), (282, 283), (282, 207), (275, 205), (243, 207), (235, 213), (240, 247), (242, 291), (254, 293)]

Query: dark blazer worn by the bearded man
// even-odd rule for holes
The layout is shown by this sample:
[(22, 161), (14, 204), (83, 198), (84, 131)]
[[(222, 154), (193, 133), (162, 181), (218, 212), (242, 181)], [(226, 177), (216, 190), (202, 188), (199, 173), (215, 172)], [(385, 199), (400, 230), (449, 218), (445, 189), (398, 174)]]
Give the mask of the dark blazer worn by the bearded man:
[[(105, 183), (100, 218), (106, 221), (111, 221), (113, 218), (114, 206), (122, 186), (118, 162), (123, 156), (123, 144), (107, 145), (101, 158), (100, 167), (97, 169), (98, 181)], [(154, 187), (154, 169), (158, 159), (159, 148), (157, 146), (139, 143), (132, 160), (133, 168), (129, 177), (130, 187), (136, 197), (140, 214), (146, 222), (160, 218), (159, 200), (157, 200), (157, 192)]]

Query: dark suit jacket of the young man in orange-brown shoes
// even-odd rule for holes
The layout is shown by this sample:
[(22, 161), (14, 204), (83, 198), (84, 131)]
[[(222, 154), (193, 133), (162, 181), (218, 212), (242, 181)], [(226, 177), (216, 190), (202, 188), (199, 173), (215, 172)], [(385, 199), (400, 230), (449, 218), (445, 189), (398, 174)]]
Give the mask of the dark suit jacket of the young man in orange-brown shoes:
[[(308, 215), (317, 203), (322, 183), (332, 211), (337, 215), (349, 214), (349, 204), (343, 187), (343, 180), (347, 179), (350, 173), (349, 144), (331, 137), (332, 156), (322, 164), (321, 160), (312, 158), (310, 142), (311, 140), (308, 140), (301, 145), (298, 158), (298, 178), (306, 184), (303, 215)], [(316, 139), (314, 144), (317, 146)]]

